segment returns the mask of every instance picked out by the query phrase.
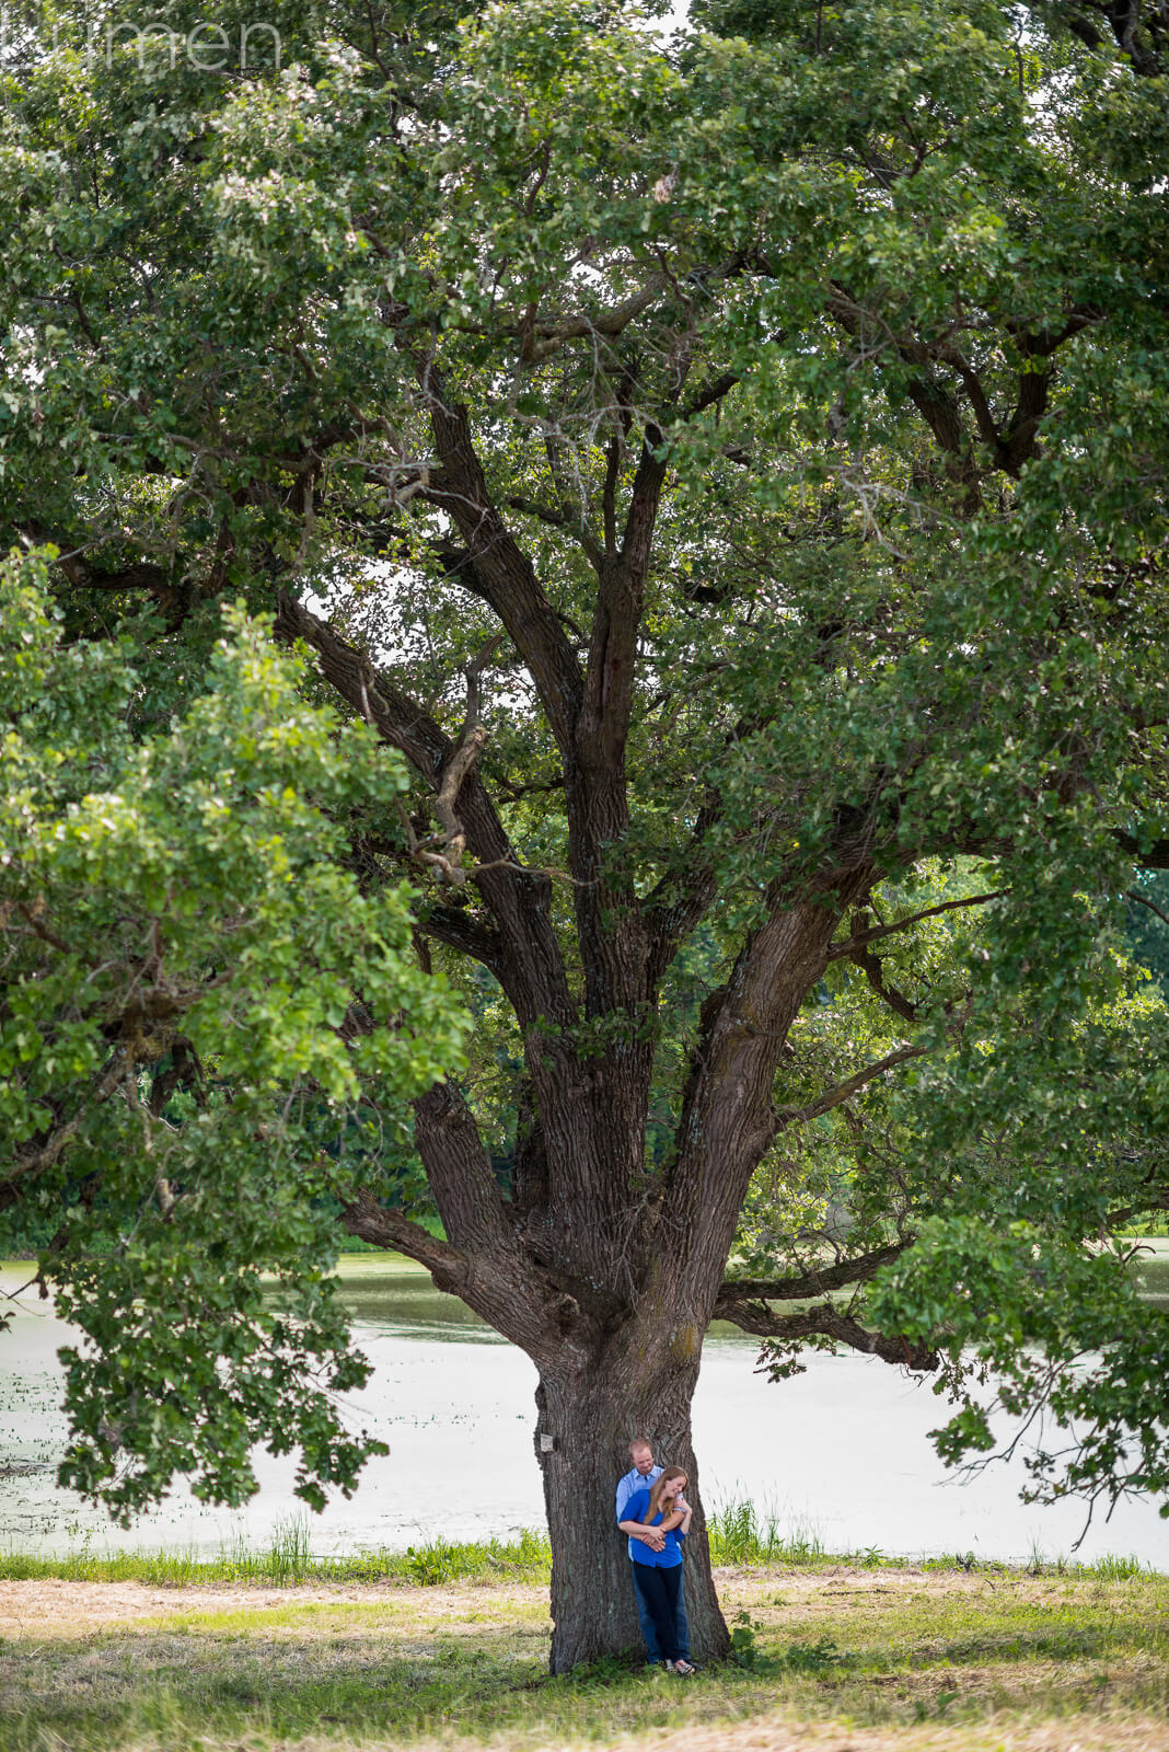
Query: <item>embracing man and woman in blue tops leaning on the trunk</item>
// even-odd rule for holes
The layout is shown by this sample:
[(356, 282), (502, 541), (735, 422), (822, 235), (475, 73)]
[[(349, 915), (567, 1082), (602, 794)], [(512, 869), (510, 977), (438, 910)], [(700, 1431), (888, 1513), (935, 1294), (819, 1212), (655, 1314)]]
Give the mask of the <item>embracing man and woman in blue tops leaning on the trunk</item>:
[(618, 1482), (618, 1526), (630, 1542), (646, 1654), (651, 1666), (663, 1661), (668, 1673), (688, 1678), (695, 1671), (682, 1591), (682, 1540), (691, 1515), (684, 1496), (688, 1479), (681, 1466), (656, 1466), (642, 1437), (630, 1442), (630, 1461)]

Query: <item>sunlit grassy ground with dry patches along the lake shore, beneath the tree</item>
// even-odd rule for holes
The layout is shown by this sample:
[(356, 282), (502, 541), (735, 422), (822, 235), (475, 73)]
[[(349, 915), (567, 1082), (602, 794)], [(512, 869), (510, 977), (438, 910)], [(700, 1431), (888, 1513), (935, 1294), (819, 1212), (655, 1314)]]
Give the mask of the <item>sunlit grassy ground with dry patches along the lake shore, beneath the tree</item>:
[(546, 1587), (0, 1582), (4, 1752), (1166, 1752), (1169, 1579), (756, 1563), (744, 1664), (548, 1678)]

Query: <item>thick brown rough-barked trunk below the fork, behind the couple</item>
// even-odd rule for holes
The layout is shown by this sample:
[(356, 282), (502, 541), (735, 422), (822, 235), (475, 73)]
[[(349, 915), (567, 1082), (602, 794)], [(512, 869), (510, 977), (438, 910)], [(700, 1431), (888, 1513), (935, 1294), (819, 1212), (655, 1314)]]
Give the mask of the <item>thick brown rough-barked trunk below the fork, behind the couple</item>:
[[(693, 1328), (690, 1330), (693, 1333)], [(628, 1472), (628, 1444), (646, 1437), (662, 1466), (682, 1466), (695, 1515), (682, 1552), (691, 1656), (719, 1659), (730, 1647), (714, 1593), (698, 1470), (690, 1438), (690, 1403), (700, 1344), (688, 1356), (651, 1361), (658, 1335), (639, 1344), (639, 1328), (618, 1346), (592, 1353), (574, 1370), (541, 1372), (536, 1454), (544, 1475), (551, 1537), (551, 1670), (625, 1650), (642, 1652), (625, 1535), (616, 1529), (614, 1491)], [(630, 1342), (632, 1340), (632, 1342)], [(677, 1353), (679, 1346), (670, 1346)]]

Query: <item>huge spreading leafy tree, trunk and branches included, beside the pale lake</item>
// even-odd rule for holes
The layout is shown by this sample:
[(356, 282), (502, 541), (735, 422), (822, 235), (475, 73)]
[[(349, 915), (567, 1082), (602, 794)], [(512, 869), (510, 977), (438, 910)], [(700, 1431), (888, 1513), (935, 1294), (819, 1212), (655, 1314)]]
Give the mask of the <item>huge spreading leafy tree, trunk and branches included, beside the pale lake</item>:
[[(0, 116), (4, 1197), (77, 1200), (72, 1477), (136, 1431), (147, 1494), (247, 1487), (308, 1353), (360, 1367), (336, 1198), (537, 1363), (556, 1666), (630, 1640), (593, 1529), (623, 1437), (693, 1466), (716, 1307), (959, 1391), (975, 1342), (1017, 1409), (1102, 1407), (1064, 1482), (1164, 1489), (1110, 1246), (1169, 1204), (1120, 953), (1169, 867), (1164, 7), (287, 4), (215, 75), (159, 16), (180, 53), (18, 42)], [(352, 1482), (304, 1405), (306, 1487)]]

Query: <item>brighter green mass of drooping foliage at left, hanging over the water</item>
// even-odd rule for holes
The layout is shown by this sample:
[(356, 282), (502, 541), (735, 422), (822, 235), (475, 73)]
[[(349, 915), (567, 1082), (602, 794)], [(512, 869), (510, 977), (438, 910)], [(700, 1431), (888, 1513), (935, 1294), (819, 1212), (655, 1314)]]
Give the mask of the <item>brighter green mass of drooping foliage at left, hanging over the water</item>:
[(51, 1218), (89, 1339), (61, 1479), (121, 1517), (175, 1472), (238, 1503), (262, 1438), (301, 1451), (322, 1507), (369, 1452), (332, 1398), (369, 1370), (329, 1274), (380, 1142), (362, 1090), (401, 1130), (466, 1034), (416, 967), (404, 885), (362, 894), (345, 867), (334, 816), (392, 802), (404, 767), (364, 725), (340, 739), (240, 613), (206, 692), (152, 729), (133, 634), (63, 643), (35, 559), (0, 592), (2, 1197), (18, 1239)]

